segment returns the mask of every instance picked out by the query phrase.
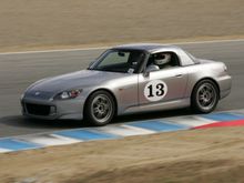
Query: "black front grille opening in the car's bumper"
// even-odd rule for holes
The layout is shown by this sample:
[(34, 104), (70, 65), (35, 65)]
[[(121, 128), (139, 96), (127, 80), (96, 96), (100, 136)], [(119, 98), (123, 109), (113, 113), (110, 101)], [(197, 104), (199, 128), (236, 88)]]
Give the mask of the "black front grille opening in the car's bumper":
[(26, 112), (33, 115), (50, 115), (50, 105), (24, 103)]

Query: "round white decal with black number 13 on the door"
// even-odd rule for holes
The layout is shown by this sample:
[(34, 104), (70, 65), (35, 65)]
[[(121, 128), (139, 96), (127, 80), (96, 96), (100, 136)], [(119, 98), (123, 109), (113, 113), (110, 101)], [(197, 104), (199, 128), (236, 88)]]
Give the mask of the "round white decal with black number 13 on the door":
[(161, 80), (150, 81), (144, 88), (144, 96), (149, 101), (162, 100), (167, 92), (166, 84)]

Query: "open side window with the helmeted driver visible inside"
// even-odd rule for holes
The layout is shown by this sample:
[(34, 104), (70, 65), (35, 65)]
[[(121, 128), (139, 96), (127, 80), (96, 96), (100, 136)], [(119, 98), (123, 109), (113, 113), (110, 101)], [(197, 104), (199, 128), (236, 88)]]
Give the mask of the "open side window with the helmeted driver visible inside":
[(157, 65), (160, 69), (167, 69), (180, 67), (180, 61), (174, 52), (159, 52), (150, 55), (146, 67), (150, 64)]

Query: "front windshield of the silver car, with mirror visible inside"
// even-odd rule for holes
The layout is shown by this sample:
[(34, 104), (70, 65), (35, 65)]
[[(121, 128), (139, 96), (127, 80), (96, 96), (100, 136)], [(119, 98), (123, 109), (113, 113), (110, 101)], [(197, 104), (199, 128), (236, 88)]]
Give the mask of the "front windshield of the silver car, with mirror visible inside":
[(136, 73), (145, 53), (139, 50), (108, 50), (90, 70)]

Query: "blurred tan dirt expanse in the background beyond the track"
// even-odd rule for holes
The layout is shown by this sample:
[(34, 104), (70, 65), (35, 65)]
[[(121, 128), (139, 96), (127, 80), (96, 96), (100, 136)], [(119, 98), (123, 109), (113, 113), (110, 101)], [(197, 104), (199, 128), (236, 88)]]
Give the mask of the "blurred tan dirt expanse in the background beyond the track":
[(243, 38), (243, 0), (0, 0), (0, 51)]

